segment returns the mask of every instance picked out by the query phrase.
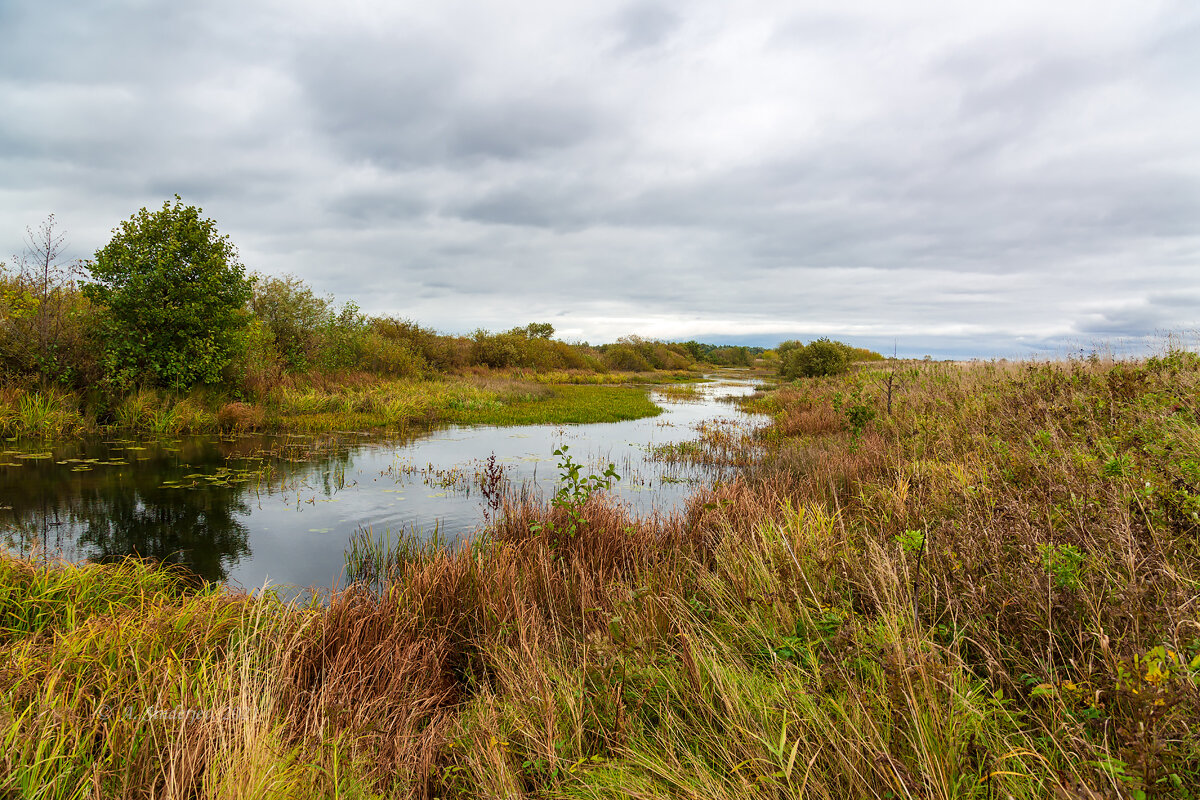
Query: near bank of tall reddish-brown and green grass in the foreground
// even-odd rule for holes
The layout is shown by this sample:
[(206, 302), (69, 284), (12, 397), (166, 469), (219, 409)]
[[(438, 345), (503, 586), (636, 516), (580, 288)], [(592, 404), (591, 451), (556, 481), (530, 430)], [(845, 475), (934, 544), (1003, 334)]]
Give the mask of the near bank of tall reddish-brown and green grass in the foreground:
[(0, 795), (1198, 796), (1195, 356), (887, 377), (326, 604), (0, 561)]

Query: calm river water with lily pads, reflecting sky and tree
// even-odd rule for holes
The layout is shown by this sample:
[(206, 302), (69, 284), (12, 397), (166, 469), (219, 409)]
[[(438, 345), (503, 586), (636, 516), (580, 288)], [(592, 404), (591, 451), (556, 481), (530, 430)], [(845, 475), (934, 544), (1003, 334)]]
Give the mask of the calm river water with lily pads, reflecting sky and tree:
[(445, 541), (480, 530), (492, 453), (509, 492), (548, 499), (563, 445), (584, 475), (616, 464), (622, 480), (611, 492), (635, 512), (670, 512), (722, 476), (664, 452), (762, 422), (722, 399), (752, 392), (749, 380), (696, 390), (686, 401), (652, 390), (660, 416), (598, 425), (7, 443), (0, 545), (72, 560), (137, 553), (251, 589), (328, 587), (341, 581), (356, 530), (437, 531)]

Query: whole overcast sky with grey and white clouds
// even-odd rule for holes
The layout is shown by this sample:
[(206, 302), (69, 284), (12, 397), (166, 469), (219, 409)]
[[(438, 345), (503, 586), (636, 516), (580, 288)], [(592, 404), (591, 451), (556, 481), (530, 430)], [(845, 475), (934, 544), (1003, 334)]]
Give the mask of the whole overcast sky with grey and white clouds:
[(1194, 0), (0, 0), (0, 258), (180, 194), (445, 332), (1117, 348), (1200, 308)]

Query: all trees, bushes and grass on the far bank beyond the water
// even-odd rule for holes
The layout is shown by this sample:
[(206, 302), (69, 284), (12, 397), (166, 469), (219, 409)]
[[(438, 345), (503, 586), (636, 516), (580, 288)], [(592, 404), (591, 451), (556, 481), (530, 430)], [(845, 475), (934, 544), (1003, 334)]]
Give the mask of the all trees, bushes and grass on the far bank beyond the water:
[(62, 247), (50, 217), (0, 264), (0, 435), (628, 420), (655, 413), (630, 385), (762, 351), (566, 343), (546, 323), (443, 335), (370, 317), (295, 277), (247, 275), (178, 198), (125, 221), (94, 259), (66, 263)]

